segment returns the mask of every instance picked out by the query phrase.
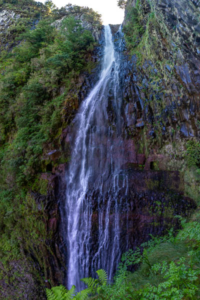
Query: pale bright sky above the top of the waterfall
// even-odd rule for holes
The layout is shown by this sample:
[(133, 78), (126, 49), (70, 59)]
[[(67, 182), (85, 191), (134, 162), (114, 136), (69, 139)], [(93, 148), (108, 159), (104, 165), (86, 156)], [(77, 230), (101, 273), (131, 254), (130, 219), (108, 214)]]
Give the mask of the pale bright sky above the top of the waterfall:
[[(117, 6), (117, 0), (52, 0), (57, 7), (65, 6), (68, 3), (79, 6), (88, 6), (102, 15), (104, 25), (121, 24), (124, 11)], [(45, 0), (40, 0), (44, 3)]]

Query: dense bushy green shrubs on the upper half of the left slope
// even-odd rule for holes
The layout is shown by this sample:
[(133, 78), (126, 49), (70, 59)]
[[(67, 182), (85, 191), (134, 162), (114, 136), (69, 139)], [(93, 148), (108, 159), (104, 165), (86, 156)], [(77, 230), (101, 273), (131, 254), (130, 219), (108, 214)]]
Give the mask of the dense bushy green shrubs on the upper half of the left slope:
[[(88, 69), (85, 55), (94, 46), (91, 33), (73, 17), (63, 20), (60, 31), (51, 23), (40, 21), (23, 34), (25, 42), (0, 59), (1, 70), (6, 68), (0, 83), (1, 144), (9, 143), (10, 131), (16, 131), (2, 167), (18, 185), (41, 170), (42, 145), (61, 126), (61, 104), (71, 81)], [(61, 95), (60, 86), (65, 86)]]

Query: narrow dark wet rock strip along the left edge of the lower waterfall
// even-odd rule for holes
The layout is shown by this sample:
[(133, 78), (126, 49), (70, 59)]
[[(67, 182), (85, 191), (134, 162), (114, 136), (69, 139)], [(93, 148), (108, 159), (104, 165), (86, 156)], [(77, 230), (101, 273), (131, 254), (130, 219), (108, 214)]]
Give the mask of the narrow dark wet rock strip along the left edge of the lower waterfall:
[[(31, 192), (31, 196), (42, 207), (45, 215), (44, 225), (46, 230), (45, 243), (41, 243), (40, 250), (45, 253), (44, 268), (46, 287), (49, 287), (48, 280), (57, 285), (64, 282), (65, 260), (63, 255), (63, 240), (60, 235), (60, 212), (59, 202), (64, 196), (64, 166), (54, 168), (52, 173), (42, 173), (41, 179), (47, 180), (47, 193), (42, 195), (38, 192)], [(51, 236), (53, 238), (51, 238)], [(36, 249), (35, 249), (36, 250)], [(38, 264), (34, 252), (32, 259)], [(40, 265), (40, 267), (43, 267)]]

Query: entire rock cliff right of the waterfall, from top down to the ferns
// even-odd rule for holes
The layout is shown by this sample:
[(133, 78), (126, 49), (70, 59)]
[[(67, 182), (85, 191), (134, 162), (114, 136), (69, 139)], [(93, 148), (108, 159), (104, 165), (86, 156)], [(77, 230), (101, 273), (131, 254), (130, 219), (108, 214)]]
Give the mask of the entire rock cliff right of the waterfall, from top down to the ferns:
[(199, 198), (200, 178), (189, 170), (186, 157), (191, 140), (199, 151), (199, 17), (196, 1), (129, 0), (126, 44), (117, 42), (118, 33), (114, 36), (115, 46), (124, 47), (121, 113), (132, 247), (148, 233), (163, 233), (169, 223), (176, 227), (173, 216), (188, 215), (195, 208), (191, 198)]

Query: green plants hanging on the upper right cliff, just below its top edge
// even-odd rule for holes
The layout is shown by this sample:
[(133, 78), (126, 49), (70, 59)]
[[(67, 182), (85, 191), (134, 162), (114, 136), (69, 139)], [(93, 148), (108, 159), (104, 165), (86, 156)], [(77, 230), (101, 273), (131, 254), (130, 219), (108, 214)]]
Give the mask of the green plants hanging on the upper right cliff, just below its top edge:
[[(166, 28), (159, 20), (159, 16), (156, 15), (151, 1), (147, 0), (145, 5), (142, 5), (140, 0), (136, 0), (134, 6), (127, 3), (125, 21), (123, 31), (127, 49), (131, 55), (136, 55), (138, 65), (141, 65), (146, 57), (161, 68), (165, 63), (172, 63), (172, 61), (166, 62), (165, 55), (161, 55), (159, 50), (160, 38), (164, 38), (166, 35)], [(151, 77), (151, 80), (157, 83), (156, 81), (160, 80), (162, 72), (162, 70), (160, 73), (159, 70), (155, 74), (152, 72), (153, 78)], [(159, 86), (154, 86), (154, 88), (159, 88)]]

